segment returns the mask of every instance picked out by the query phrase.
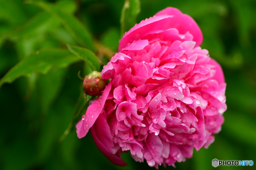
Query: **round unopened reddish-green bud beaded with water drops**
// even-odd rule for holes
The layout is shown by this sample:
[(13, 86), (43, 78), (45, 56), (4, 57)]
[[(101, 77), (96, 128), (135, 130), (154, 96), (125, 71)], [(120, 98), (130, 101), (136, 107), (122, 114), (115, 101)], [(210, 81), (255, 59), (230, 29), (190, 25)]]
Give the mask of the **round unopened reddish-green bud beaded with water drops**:
[(100, 95), (107, 83), (107, 80), (101, 78), (100, 72), (93, 71), (83, 79), (84, 93), (91, 96)]

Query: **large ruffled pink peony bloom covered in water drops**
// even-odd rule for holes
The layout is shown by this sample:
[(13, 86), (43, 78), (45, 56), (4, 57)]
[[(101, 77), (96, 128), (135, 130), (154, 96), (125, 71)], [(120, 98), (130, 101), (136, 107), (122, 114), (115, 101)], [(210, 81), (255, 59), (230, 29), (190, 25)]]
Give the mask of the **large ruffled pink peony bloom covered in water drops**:
[(125, 165), (122, 151), (158, 168), (207, 148), (224, 122), (226, 83), (201, 43), (196, 22), (176, 8), (136, 24), (103, 67), (102, 78), (111, 81), (77, 123), (77, 136), (90, 128), (117, 165)]

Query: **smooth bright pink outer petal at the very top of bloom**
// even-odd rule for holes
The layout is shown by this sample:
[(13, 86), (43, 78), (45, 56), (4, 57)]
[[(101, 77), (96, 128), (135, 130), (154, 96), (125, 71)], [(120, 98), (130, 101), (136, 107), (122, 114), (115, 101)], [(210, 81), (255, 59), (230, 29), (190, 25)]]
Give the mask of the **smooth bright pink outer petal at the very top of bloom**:
[(203, 41), (203, 35), (198, 27), (196, 21), (186, 14), (182, 14), (180, 10), (173, 7), (167, 7), (162, 11), (156, 13), (156, 16), (159, 15), (173, 15), (174, 17), (168, 21), (169, 28), (176, 28), (179, 31), (179, 34), (185, 34), (189, 31), (193, 36), (193, 41), (196, 42), (196, 46), (200, 46)]

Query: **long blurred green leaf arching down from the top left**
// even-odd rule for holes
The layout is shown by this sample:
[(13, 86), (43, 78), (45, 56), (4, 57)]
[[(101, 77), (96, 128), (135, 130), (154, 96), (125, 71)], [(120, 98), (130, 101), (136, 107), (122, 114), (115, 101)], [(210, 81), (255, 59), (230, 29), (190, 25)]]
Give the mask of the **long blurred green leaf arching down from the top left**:
[(25, 1), (27, 4), (38, 5), (52, 16), (57, 17), (72, 37), (82, 46), (93, 50), (92, 36), (85, 28), (83, 23), (74, 16), (70, 15), (67, 11), (61, 9), (57, 5), (39, 2), (39, 1)]

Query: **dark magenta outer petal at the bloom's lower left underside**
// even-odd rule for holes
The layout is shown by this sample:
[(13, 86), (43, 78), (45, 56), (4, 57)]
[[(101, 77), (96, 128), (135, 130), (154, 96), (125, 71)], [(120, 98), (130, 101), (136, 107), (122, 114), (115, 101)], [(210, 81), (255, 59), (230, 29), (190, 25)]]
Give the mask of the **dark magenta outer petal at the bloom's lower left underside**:
[(118, 156), (118, 153), (112, 154), (114, 144), (109, 125), (103, 114), (99, 115), (98, 119), (92, 126), (91, 134), (96, 146), (106, 156), (106, 158), (108, 158), (108, 160), (119, 166), (127, 165), (124, 160)]

